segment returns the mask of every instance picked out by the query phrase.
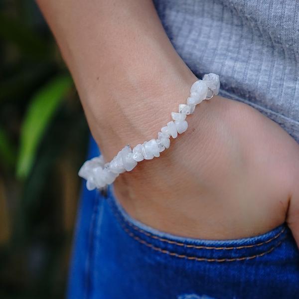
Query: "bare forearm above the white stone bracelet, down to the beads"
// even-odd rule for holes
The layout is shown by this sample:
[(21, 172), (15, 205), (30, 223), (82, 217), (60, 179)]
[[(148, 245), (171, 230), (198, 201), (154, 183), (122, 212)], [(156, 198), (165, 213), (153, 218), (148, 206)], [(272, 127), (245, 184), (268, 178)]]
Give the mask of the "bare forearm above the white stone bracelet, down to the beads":
[(195, 77), (173, 49), (152, 2), (38, 3), (104, 156), (110, 159), (127, 143), (154, 138)]

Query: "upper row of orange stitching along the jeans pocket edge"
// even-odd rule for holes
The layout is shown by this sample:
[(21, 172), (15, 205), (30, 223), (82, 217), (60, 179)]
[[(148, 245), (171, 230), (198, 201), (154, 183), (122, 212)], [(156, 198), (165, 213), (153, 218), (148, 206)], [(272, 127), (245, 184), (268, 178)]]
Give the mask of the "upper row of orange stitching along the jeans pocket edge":
[(258, 243), (258, 244), (253, 244), (253, 245), (243, 245), (243, 246), (238, 246), (238, 247), (208, 247), (208, 246), (199, 246), (199, 245), (186, 245), (184, 243), (179, 243), (179, 242), (176, 242), (176, 241), (170, 241), (170, 240), (167, 240), (167, 239), (164, 239), (164, 238), (160, 238), (158, 236), (155, 236), (155, 235), (152, 235), (142, 229), (140, 229), (139, 227), (135, 226), (134, 224), (130, 223), (127, 219), (124, 218), (124, 221), (130, 225), (133, 229), (139, 231), (140, 233), (152, 238), (152, 239), (157, 239), (159, 241), (162, 241), (162, 242), (166, 242), (166, 243), (169, 243), (169, 244), (174, 244), (174, 245), (178, 245), (178, 246), (184, 246), (184, 247), (187, 247), (187, 248), (195, 248), (195, 249), (215, 249), (215, 250), (232, 250), (232, 249), (242, 249), (242, 248), (252, 248), (252, 247), (256, 247), (256, 246), (261, 246), (263, 244), (267, 244), (275, 239), (277, 239), (285, 230), (286, 230), (286, 227), (284, 227), (277, 235), (275, 235), (274, 237), (272, 237), (271, 239), (267, 240), (267, 241), (264, 241), (264, 242), (261, 242), (261, 243)]

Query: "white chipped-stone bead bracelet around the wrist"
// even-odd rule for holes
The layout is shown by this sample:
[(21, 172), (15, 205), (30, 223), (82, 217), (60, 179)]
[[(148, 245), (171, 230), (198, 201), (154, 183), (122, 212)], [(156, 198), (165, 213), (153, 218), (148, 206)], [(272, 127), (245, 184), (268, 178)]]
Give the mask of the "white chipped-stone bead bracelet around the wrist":
[(79, 170), (79, 176), (87, 180), (87, 189), (104, 188), (112, 184), (120, 173), (131, 171), (138, 162), (158, 157), (161, 151), (169, 148), (170, 136), (176, 138), (177, 134), (187, 130), (186, 116), (193, 114), (195, 106), (203, 100), (209, 100), (217, 95), (219, 88), (218, 75), (213, 73), (204, 75), (202, 80), (197, 80), (191, 86), (187, 104), (179, 104), (178, 112), (171, 112), (172, 121), (158, 132), (157, 139), (139, 144), (133, 150), (127, 145), (108, 163), (105, 163), (102, 155), (87, 160)]

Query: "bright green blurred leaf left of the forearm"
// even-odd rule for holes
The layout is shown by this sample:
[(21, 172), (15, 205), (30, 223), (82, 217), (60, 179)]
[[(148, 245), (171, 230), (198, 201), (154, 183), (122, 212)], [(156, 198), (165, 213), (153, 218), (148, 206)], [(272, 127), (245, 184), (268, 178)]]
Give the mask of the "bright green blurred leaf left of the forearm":
[(72, 86), (69, 76), (58, 76), (33, 96), (25, 115), (16, 167), (19, 178), (29, 174), (36, 150), (62, 99)]

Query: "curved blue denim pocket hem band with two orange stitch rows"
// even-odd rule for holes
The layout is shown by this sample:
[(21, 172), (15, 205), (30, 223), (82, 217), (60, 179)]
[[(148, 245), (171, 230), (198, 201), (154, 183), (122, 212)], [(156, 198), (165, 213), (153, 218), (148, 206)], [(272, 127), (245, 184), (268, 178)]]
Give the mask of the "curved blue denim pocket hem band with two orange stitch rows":
[(230, 240), (205, 240), (178, 237), (153, 229), (132, 218), (115, 199), (110, 206), (123, 230), (151, 250), (179, 259), (205, 262), (237, 262), (270, 254), (290, 235), (286, 224), (258, 236)]

